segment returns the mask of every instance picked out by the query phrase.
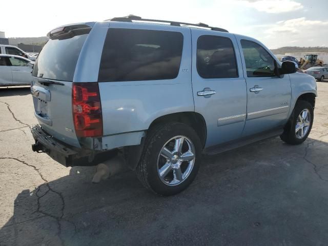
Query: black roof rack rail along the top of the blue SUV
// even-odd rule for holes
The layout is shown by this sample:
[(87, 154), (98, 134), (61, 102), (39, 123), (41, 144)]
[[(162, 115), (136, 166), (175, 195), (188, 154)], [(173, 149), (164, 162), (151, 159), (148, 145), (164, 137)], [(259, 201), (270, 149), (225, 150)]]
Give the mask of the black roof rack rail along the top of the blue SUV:
[(107, 20), (111, 20), (113, 22), (132, 22), (132, 20), (137, 20), (137, 21), (144, 21), (144, 22), (170, 23), (171, 26), (180, 27), (181, 25), (185, 25), (185, 26), (209, 28), (213, 31), (219, 31), (219, 32), (228, 32), (228, 30), (226, 30), (226, 29), (219, 28), (219, 27), (210, 27), (209, 25), (204, 24), (204, 23), (192, 24), (192, 23), (185, 23), (185, 22), (172, 22), (171, 20), (143, 19), (140, 16), (136, 16), (133, 14), (130, 14), (130, 15), (124, 16), (124, 17), (114, 17), (111, 19), (105, 19), (105, 21), (107, 21)]

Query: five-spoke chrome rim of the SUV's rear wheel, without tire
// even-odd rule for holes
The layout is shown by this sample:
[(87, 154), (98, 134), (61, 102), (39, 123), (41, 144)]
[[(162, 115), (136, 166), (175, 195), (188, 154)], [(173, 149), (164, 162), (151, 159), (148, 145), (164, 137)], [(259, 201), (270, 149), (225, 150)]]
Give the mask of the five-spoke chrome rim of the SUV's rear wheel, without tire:
[(188, 137), (172, 137), (162, 147), (157, 158), (160, 180), (168, 186), (179, 185), (193, 170), (195, 158), (195, 147)]

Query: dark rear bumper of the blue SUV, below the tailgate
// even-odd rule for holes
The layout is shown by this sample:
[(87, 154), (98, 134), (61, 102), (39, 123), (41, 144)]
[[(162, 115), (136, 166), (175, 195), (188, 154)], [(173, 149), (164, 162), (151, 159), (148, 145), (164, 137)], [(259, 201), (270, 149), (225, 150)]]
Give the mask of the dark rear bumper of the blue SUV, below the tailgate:
[(48, 154), (52, 159), (65, 167), (95, 166), (116, 155), (116, 150), (96, 152), (68, 146), (50, 136), (38, 125), (31, 126), (31, 133), (35, 140), (32, 150), (37, 153)]

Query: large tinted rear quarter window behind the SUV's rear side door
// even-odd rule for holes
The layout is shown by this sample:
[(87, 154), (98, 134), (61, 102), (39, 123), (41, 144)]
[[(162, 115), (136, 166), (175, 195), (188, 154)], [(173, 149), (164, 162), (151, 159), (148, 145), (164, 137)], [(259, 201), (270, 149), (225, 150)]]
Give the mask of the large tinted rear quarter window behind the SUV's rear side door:
[(111, 28), (98, 81), (173, 79), (179, 73), (182, 46), (179, 32)]

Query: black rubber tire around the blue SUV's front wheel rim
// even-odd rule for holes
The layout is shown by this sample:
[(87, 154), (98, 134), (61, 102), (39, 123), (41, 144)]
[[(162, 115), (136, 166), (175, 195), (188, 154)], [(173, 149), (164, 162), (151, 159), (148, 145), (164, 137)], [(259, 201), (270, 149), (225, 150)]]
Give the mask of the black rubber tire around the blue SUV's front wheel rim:
[[(310, 126), (308, 132), (303, 137), (299, 138), (296, 135), (296, 124), (300, 113), (305, 109), (307, 109), (310, 113), (310, 117), (311, 117)], [(280, 135), (281, 140), (290, 145), (302, 144), (302, 142), (304, 142), (305, 139), (308, 138), (311, 132), (313, 120), (314, 120), (314, 110), (312, 105), (308, 101), (298, 100), (288, 124), (286, 124), (283, 133)]]

